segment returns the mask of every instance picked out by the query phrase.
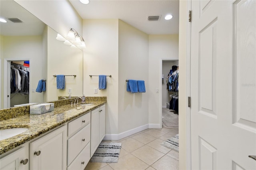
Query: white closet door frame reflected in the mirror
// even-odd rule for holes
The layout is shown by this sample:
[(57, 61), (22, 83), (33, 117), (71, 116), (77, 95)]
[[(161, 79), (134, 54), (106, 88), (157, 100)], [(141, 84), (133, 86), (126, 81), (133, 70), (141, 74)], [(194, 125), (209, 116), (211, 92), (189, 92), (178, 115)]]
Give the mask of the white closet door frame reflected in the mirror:
[[(22, 58), (22, 59), (17, 59), (17, 58), (8, 58), (8, 59), (4, 59), (4, 109), (9, 108), (10, 107), (10, 68), (11, 68), (11, 61), (29, 61), (30, 63), (30, 71), (31, 71), (31, 58)], [(29, 80), (30, 80), (30, 74), (29, 74)], [(29, 85), (29, 103), (31, 100), (31, 93), (30, 93), (30, 89), (31, 89), (31, 84)], [(9, 97), (8, 97), (9, 95)]]

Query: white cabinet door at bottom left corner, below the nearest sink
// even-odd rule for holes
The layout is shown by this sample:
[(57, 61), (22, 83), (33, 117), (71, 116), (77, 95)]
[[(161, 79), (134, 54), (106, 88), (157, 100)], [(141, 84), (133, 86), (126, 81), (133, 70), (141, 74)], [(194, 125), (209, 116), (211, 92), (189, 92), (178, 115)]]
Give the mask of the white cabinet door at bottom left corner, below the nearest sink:
[(22, 147), (0, 159), (1, 170), (28, 170), (28, 146)]

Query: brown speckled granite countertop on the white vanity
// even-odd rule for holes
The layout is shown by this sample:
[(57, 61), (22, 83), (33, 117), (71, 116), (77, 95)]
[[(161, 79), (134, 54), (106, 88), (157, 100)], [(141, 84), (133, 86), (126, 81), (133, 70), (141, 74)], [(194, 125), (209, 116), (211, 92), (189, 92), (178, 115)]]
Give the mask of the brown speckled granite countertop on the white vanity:
[(94, 105), (64, 105), (60, 107), (54, 108), (54, 111), (44, 113), (42, 115), (23, 115), (19, 117), (15, 117), (12, 119), (6, 119), (0, 121), (0, 129), (6, 128), (29, 128), (25, 132), (13, 136), (11, 138), (7, 138), (4, 140), (0, 140), (0, 154), (4, 154), (13, 148), (28, 142), (56, 128), (84, 113), (87, 113), (100, 105), (106, 103), (106, 101), (94, 101)]

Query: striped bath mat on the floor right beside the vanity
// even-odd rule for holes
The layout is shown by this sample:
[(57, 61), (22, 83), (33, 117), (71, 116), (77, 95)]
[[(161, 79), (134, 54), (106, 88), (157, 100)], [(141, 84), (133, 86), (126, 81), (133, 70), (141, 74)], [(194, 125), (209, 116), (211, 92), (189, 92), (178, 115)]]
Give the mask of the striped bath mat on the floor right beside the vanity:
[(90, 162), (118, 162), (122, 143), (101, 142)]

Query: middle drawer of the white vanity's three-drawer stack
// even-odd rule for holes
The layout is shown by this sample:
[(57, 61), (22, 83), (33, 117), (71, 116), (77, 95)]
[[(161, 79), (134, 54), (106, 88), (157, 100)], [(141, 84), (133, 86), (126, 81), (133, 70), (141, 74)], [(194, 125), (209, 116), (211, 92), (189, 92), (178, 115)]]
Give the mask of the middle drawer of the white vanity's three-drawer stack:
[(68, 165), (76, 158), (81, 150), (90, 142), (90, 123), (68, 139)]

